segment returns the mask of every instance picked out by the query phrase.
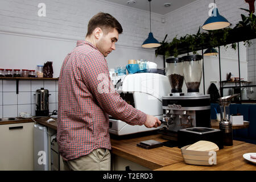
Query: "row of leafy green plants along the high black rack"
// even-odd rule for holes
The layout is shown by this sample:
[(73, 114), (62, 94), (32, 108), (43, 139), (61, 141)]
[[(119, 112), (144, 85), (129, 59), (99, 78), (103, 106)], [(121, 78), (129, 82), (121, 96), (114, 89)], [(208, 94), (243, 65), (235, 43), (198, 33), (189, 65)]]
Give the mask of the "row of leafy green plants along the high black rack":
[[(242, 8), (241, 8), (242, 9)], [(201, 27), (199, 27), (199, 30), (196, 34), (192, 35), (185, 35), (181, 36), (180, 39), (177, 38), (177, 35), (174, 39), (172, 39), (172, 42), (167, 43), (165, 42), (166, 37), (164, 38), (163, 42), (160, 44), (162, 46), (158, 47), (156, 49), (156, 56), (158, 53), (161, 53), (162, 55), (165, 55), (166, 57), (169, 57), (173, 55), (174, 57), (177, 57), (179, 53), (185, 53), (185, 51), (193, 52), (193, 54), (196, 54), (196, 51), (200, 48), (209, 48), (209, 47), (218, 47), (218, 46), (224, 46), (225, 48), (228, 48), (228, 44), (231, 44), (231, 48), (234, 50), (237, 49), (237, 44), (234, 43), (234, 41), (237, 40), (237, 42), (241, 41), (238, 37), (240, 35), (242, 36), (242, 39), (244, 40), (244, 45), (250, 46), (251, 42), (250, 40), (246, 39), (254, 39), (256, 34), (256, 16), (253, 13), (250, 13), (249, 10), (242, 9), (247, 12), (249, 12), (249, 16), (245, 16), (241, 14), (241, 21), (236, 24), (236, 27), (232, 28), (222, 28), (220, 30), (213, 30), (208, 32), (200, 32)], [(249, 30), (248, 30), (249, 28)]]

